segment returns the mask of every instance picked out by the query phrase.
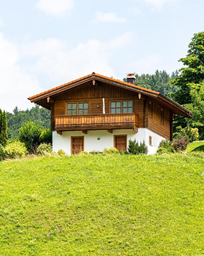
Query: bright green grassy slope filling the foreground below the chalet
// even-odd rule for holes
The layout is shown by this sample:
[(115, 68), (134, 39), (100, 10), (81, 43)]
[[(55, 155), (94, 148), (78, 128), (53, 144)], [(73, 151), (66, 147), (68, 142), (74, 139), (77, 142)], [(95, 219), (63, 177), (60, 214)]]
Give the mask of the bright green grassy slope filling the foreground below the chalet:
[(0, 255), (204, 254), (203, 146), (1, 162)]

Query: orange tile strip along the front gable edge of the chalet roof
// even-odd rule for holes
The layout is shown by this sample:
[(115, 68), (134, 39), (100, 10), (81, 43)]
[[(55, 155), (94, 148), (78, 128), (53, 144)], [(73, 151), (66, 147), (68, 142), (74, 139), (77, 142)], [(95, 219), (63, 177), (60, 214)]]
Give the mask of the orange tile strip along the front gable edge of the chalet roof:
[(75, 79), (75, 80), (73, 80), (73, 81), (71, 81), (71, 82), (62, 84), (62, 85), (60, 85), (60, 86), (54, 87), (54, 88), (52, 88), (52, 89), (50, 89), (50, 90), (47, 90), (47, 91), (45, 91), (45, 92), (41, 92), (41, 93), (39, 93), (39, 94), (36, 94), (36, 95), (34, 95), (34, 96), (31, 96), (31, 97), (29, 97), (29, 100), (31, 100), (31, 99), (33, 99), (33, 98), (35, 98), (35, 97), (37, 97), (37, 96), (43, 95), (43, 94), (45, 94), (45, 93), (47, 93), (47, 92), (54, 91), (54, 90), (56, 90), (56, 89), (58, 89), (58, 88), (60, 88), (60, 87), (66, 86), (66, 85), (68, 85), (68, 84), (72, 84), (72, 83), (74, 83), (74, 82), (76, 82), (76, 81), (78, 82), (78, 81), (83, 80), (83, 79), (85, 79), (85, 78), (87, 78), (87, 77), (90, 77), (90, 76), (98, 76), (98, 77), (106, 78), (106, 79), (109, 79), (109, 80), (112, 80), (112, 81), (115, 81), (115, 82), (119, 82), (119, 83), (121, 83), (121, 84), (129, 85), (129, 86), (131, 86), (131, 87), (134, 87), (134, 88), (137, 88), (137, 89), (140, 89), (140, 90), (144, 90), (144, 91), (147, 91), (147, 92), (152, 92), (152, 93), (155, 93), (155, 94), (159, 94), (159, 92), (156, 92), (156, 91), (153, 91), (153, 90), (150, 90), (150, 89), (147, 89), (147, 88), (143, 88), (143, 87), (140, 87), (140, 86), (137, 86), (137, 85), (134, 85), (134, 84), (130, 84), (130, 83), (127, 83), (127, 82), (124, 82), (124, 81), (120, 81), (120, 80), (117, 80), (117, 79), (114, 79), (114, 78), (111, 78), (111, 77), (108, 77), (108, 76), (103, 76), (103, 75), (100, 75), (100, 74), (96, 74), (96, 73), (93, 72), (92, 74), (89, 74), (89, 75), (87, 75), (87, 76), (80, 77), (80, 78)]

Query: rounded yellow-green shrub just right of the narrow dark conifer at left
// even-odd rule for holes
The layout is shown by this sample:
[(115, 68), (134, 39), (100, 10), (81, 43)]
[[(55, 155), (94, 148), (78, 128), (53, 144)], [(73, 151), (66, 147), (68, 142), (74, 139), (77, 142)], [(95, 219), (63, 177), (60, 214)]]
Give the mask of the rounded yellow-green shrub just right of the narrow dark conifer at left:
[(25, 156), (28, 151), (23, 142), (14, 141), (6, 145), (4, 148), (5, 158), (18, 158)]

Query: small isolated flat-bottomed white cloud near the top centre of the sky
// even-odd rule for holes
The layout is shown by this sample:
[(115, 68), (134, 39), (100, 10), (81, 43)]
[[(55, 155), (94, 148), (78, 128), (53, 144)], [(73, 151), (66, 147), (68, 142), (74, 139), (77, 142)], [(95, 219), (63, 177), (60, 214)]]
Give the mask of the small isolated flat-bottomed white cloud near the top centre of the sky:
[(96, 12), (95, 18), (93, 19), (94, 23), (126, 23), (126, 18), (118, 17), (115, 12), (109, 12), (109, 13), (102, 13), (102, 12)]

